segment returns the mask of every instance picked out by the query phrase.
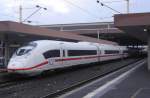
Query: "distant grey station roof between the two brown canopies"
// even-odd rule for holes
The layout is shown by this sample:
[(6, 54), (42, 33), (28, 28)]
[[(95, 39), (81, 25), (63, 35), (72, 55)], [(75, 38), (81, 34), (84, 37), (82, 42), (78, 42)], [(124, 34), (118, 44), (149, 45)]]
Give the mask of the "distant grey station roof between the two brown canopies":
[(74, 24), (55, 24), (41, 25), (48, 29), (56, 31), (64, 31), (78, 35), (88, 36), (96, 39), (103, 39), (117, 42), (119, 45), (145, 45), (145, 41), (141, 41), (125, 31), (115, 27), (114, 22), (93, 22), (93, 23), (74, 23)]

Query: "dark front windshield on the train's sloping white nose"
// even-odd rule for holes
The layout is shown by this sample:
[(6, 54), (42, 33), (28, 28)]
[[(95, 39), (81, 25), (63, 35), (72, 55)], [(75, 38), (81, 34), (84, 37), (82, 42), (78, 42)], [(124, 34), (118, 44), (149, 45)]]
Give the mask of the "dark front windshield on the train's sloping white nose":
[(19, 48), (15, 54), (17, 56), (25, 55), (25, 54), (29, 53), (30, 51), (32, 51), (36, 46), (37, 46), (36, 43), (29, 43), (29, 44), (24, 45), (21, 48)]

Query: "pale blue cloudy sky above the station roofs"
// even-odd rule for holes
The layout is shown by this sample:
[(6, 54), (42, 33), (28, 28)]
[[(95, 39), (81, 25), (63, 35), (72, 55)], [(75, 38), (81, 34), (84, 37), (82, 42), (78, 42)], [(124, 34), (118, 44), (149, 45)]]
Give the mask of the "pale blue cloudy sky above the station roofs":
[[(25, 20), (24, 23), (32, 25), (112, 22), (114, 14), (118, 13), (106, 6), (101, 6), (96, 1), (0, 0), (0, 21), (19, 22), (19, 6), (21, 5), (22, 21)], [(126, 0), (99, 1), (120, 13), (126, 13)], [(39, 10), (36, 5), (39, 5), (41, 9)], [(130, 13), (150, 12), (150, 0), (130, 0), (129, 5)], [(44, 10), (44, 8), (47, 8), (47, 10)], [(32, 15), (35, 11), (37, 12)], [(31, 21), (31, 23), (27, 21)]]

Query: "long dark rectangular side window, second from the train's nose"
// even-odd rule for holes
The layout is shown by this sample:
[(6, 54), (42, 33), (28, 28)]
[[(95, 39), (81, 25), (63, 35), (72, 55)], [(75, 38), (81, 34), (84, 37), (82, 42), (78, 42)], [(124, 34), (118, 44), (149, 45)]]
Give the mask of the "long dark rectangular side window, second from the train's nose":
[(68, 56), (97, 55), (97, 50), (68, 50)]

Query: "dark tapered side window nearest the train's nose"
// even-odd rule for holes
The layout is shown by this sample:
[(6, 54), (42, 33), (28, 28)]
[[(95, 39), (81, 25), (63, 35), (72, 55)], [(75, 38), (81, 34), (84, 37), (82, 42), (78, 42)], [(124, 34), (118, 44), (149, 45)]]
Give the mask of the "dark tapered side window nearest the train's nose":
[(43, 55), (46, 59), (52, 58), (52, 57), (60, 57), (60, 50), (49, 50), (43, 53)]

